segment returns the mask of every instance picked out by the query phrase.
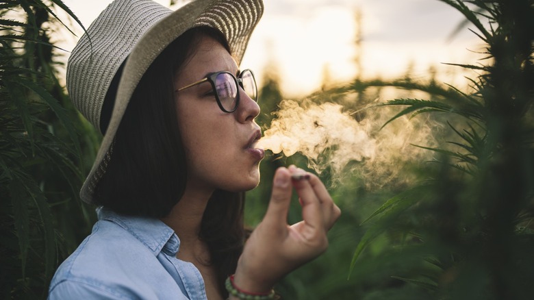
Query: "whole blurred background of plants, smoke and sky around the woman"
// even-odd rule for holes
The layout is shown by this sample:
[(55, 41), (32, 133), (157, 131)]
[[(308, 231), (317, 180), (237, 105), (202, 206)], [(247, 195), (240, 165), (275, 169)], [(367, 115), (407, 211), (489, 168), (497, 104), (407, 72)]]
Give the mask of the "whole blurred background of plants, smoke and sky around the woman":
[[(46, 298), (95, 221), (78, 191), (101, 136), (73, 109), (64, 64), (108, 3), (0, 6), (4, 299)], [(246, 225), (289, 164), (342, 209), (327, 252), (276, 287), (283, 299), (534, 297), (533, 6), (265, 1), (242, 62), (268, 149)]]

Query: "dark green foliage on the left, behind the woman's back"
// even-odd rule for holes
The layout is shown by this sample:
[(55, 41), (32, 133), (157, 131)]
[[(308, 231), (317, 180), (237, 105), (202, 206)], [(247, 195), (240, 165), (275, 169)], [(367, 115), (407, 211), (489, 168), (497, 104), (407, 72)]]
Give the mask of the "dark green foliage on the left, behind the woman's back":
[(55, 76), (56, 48), (49, 34), (58, 18), (52, 5), (73, 16), (59, 0), (3, 1), (0, 6), (3, 299), (46, 297), (55, 268), (94, 219), (77, 194), (87, 167), (81, 151), (94, 153), (97, 138)]

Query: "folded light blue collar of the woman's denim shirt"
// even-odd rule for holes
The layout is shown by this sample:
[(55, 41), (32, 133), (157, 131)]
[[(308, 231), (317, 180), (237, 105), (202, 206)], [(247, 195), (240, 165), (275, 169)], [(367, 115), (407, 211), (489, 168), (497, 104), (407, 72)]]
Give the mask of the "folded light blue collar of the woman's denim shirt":
[(176, 256), (180, 247), (180, 240), (173, 229), (157, 218), (146, 216), (127, 216), (117, 214), (103, 207), (97, 208), (99, 220), (106, 220), (123, 227), (132, 236), (135, 236), (154, 255), (164, 251), (168, 255)]

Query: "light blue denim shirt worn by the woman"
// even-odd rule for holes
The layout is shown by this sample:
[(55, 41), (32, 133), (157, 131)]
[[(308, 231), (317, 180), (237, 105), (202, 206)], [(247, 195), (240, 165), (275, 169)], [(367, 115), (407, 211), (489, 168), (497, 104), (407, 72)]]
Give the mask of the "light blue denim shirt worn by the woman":
[(49, 299), (206, 299), (199, 270), (176, 258), (173, 229), (156, 218), (97, 213), (90, 236), (55, 272)]

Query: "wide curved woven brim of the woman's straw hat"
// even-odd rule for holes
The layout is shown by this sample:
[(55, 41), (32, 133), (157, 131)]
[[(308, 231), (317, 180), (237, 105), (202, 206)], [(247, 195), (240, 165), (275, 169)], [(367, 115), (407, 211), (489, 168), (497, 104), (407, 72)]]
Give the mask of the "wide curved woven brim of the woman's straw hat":
[(262, 13), (261, 0), (196, 0), (162, 18), (144, 33), (125, 62), (110, 123), (91, 171), (81, 187), (81, 200), (93, 202), (94, 188), (105, 173), (118, 125), (133, 91), (157, 55), (188, 29), (209, 26), (223, 33), (233, 57), (240, 64), (251, 33)]

